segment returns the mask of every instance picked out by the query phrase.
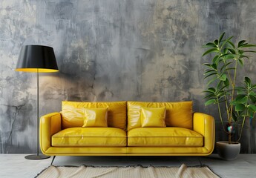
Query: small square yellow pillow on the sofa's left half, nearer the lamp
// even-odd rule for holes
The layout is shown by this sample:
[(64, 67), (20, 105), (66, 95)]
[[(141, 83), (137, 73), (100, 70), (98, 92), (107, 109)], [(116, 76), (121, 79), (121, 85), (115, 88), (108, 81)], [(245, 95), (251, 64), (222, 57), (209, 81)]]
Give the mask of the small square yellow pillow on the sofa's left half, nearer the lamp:
[(85, 108), (83, 128), (108, 128), (108, 108)]

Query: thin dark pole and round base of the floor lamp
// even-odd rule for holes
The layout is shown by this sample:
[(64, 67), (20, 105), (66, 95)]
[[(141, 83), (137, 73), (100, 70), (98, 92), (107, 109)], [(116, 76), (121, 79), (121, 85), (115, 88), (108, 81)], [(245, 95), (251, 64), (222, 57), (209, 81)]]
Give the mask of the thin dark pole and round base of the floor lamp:
[(47, 156), (45, 154), (39, 154), (39, 69), (37, 69), (36, 72), (37, 76), (37, 154), (30, 154), (25, 156), (25, 159), (30, 160), (37, 160), (37, 159), (47, 159), (50, 158), (50, 156)]

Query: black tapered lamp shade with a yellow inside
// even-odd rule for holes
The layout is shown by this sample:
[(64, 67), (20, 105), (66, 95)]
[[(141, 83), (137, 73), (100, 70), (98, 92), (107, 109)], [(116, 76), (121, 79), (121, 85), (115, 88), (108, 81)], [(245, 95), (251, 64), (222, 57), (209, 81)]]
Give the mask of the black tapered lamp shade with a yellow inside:
[(16, 71), (50, 73), (58, 72), (53, 47), (25, 45), (19, 53)]

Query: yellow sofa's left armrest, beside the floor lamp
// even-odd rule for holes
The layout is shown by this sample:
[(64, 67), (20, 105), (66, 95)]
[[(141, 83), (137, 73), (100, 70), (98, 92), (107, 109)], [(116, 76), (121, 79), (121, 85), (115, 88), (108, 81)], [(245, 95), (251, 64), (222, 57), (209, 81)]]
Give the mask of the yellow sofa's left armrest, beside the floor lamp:
[(61, 113), (48, 113), (40, 119), (40, 148), (43, 154), (51, 146), (51, 136), (62, 130)]

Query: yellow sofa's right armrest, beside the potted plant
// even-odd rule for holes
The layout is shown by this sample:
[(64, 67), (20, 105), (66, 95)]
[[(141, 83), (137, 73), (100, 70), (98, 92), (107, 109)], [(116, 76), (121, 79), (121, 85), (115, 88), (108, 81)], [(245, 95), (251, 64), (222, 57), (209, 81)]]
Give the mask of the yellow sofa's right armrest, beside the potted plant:
[(194, 113), (193, 130), (203, 135), (204, 147), (209, 151), (209, 154), (211, 154), (214, 150), (215, 142), (214, 118), (206, 113)]

